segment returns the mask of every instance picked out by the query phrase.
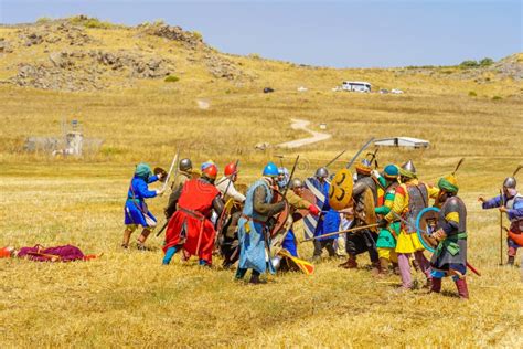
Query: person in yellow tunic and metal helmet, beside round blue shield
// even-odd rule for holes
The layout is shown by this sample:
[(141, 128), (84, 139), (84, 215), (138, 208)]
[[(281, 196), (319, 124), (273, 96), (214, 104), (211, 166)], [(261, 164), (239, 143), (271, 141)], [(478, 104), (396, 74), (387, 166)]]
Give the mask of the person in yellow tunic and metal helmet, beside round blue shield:
[(391, 222), (404, 220), (402, 230), (397, 236), (396, 254), (402, 275), (402, 284), (406, 289), (413, 287), (410, 276), (410, 255), (418, 263), (420, 269), (427, 276), (427, 287), (430, 286), (430, 266), (423, 254), (424, 247), (416, 234), (416, 218), (418, 213), (428, 207), (429, 199), (437, 199), (439, 189), (419, 182), (414, 163), (409, 160), (399, 169), (402, 184), (396, 188), (394, 203), (391, 212), (381, 221), (381, 226)]

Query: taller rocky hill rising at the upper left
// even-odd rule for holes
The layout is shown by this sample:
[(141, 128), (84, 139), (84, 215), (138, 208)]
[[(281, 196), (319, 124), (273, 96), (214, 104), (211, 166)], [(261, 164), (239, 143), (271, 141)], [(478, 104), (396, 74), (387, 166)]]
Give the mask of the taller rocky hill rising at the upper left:
[(177, 73), (188, 65), (214, 78), (254, 78), (206, 45), (201, 35), (180, 27), (148, 23), (97, 28), (93, 23), (100, 22), (81, 15), (0, 28), (2, 82), (43, 89), (89, 91), (130, 86), (140, 80), (169, 75), (175, 81)]

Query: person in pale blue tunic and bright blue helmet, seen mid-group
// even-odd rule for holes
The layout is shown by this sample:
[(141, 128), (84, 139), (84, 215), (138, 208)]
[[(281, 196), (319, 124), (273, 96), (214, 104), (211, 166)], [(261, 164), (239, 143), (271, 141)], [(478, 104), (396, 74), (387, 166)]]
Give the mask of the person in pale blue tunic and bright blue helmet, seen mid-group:
[(285, 202), (271, 203), (278, 168), (269, 162), (263, 177), (247, 190), (245, 205), (238, 220), (239, 263), (236, 279), (243, 279), (248, 269), (253, 269), (250, 283), (259, 283), (259, 275), (267, 268), (275, 269), (269, 256), (269, 232), (267, 221), (285, 209)]

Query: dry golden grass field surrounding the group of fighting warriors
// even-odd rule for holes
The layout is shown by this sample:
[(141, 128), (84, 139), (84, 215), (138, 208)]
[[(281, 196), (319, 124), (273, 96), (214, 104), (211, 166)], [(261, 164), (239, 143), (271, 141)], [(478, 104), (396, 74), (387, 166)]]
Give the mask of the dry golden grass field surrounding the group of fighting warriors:
[[(97, 45), (138, 40), (127, 30), (88, 31), (98, 38)], [(9, 28), (0, 32), (14, 36)], [(154, 47), (162, 50), (161, 43)], [(180, 50), (180, 57), (191, 54)], [(22, 53), (0, 61), (3, 78), (12, 62), (29, 60)], [(482, 211), (477, 202), (479, 194), (494, 195), (523, 163), (516, 137), (523, 127), (521, 82), (479, 84), (394, 70), (231, 60), (258, 77), (238, 85), (188, 65), (177, 83), (140, 81), (126, 88), (71, 93), (0, 85), (0, 246), (71, 243), (86, 253), (104, 253), (70, 264), (0, 260), (3, 348), (523, 346), (522, 269), (499, 266), (499, 212)], [(342, 80), (369, 80), (406, 93), (331, 92)], [(301, 85), (309, 91), (297, 92)], [(263, 94), (265, 86), (276, 92)], [(210, 108), (199, 108), (198, 99)], [(82, 159), (22, 151), (28, 136), (60, 134), (64, 117), (78, 118), (86, 137), (103, 138), (100, 151)], [(314, 129), (327, 123), (333, 137), (293, 151), (254, 150), (257, 142), (307, 137), (289, 128), (290, 118), (310, 120)], [(275, 155), (299, 154), (303, 160), (297, 176), (303, 178), (340, 150), (349, 149), (346, 161), (370, 137), (387, 136), (431, 142), (426, 150), (381, 150), (378, 158), (381, 166), (413, 159), (426, 181), (436, 181), (466, 158), (458, 179), (469, 210), (469, 261), (482, 273), (468, 277), (467, 303), (455, 296), (450, 281), (444, 282), (441, 295), (396, 293), (399, 278), (374, 278), (364, 267), (366, 256), (357, 271), (324, 260), (312, 276), (289, 273), (250, 286), (235, 283), (220, 260), (212, 269), (179, 257), (161, 266), (161, 239), (151, 236), (151, 252), (119, 247), (122, 205), (138, 161), (168, 167), (177, 149), (194, 162), (212, 158), (222, 169), (239, 159), (239, 181), (249, 183), (267, 160), (277, 160)], [(291, 160), (286, 162), (290, 167)], [(523, 182), (521, 173), (519, 179)], [(150, 200), (160, 222), (166, 201)], [(307, 243), (299, 251), (305, 257), (312, 254)], [(503, 260), (504, 254), (503, 248)], [(415, 277), (423, 282), (420, 274)]]

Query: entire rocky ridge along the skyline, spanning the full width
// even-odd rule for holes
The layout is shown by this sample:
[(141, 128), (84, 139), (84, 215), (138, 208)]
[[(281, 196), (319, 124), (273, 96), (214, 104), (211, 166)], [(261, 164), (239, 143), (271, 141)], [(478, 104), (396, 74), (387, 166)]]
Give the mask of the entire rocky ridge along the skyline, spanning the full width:
[[(263, 60), (255, 54), (224, 54), (207, 45), (201, 34), (162, 22), (125, 27), (84, 15), (0, 27), (0, 83), (52, 91), (126, 88), (147, 81), (180, 78), (248, 86), (274, 84), (281, 76), (299, 83), (307, 76), (309, 84), (328, 80), (331, 87), (341, 80), (371, 77), (378, 86), (391, 81), (396, 84), (402, 76), (414, 86), (421, 85), (424, 76), (439, 83), (523, 80), (521, 53), (476, 68), (332, 70)], [(313, 74), (299, 73), (303, 70), (321, 73), (310, 81)]]

